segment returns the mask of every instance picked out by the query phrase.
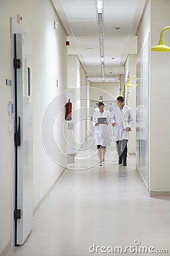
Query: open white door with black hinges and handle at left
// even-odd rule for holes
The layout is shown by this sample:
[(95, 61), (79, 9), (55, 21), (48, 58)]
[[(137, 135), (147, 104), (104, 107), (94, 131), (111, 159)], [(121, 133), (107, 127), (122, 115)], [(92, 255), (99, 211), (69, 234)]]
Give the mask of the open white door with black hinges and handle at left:
[(14, 101), (14, 245), (24, 243), (32, 230), (33, 157), (31, 46), (22, 33), (11, 34)]

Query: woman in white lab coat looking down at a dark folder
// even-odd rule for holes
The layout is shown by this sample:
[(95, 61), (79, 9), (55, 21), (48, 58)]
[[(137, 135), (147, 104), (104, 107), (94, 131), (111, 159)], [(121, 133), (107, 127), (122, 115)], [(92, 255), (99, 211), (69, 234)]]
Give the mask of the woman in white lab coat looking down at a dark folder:
[[(95, 112), (93, 116), (93, 125), (95, 126), (95, 143), (99, 155), (99, 166), (104, 164), (106, 147), (110, 146), (108, 124), (111, 121), (110, 115), (104, 110), (103, 102), (99, 102), (99, 112)], [(103, 122), (103, 123), (101, 123)]]

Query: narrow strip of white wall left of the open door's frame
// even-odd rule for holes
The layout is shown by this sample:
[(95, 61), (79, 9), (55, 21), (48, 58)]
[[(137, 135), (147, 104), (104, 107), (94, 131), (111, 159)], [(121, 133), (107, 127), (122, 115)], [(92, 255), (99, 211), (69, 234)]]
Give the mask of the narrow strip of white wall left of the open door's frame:
[[(11, 229), (11, 135), (8, 132), (7, 103), (11, 100), (11, 88), (5, 85), (10, 72), (10, 19), (6, 17), (5, 1), (0, 3), (0, 253), (10, 241)], [(4, 24), (2, 26), (2, 24)]]

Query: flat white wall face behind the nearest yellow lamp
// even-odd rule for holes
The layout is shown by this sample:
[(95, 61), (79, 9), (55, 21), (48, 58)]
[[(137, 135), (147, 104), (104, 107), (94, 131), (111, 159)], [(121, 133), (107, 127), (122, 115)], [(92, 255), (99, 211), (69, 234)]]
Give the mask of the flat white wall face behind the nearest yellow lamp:
[[(151, 46), (158, 44), (160, 31), (169, 26), (169, 10), (169, 0), (151, 1)], [(170, 44), (170, 31), (165, 32), (164, 41)], [(153, 192), (170, 191), (169, 70), (170, 53), (151, 52), (150, 191)]]

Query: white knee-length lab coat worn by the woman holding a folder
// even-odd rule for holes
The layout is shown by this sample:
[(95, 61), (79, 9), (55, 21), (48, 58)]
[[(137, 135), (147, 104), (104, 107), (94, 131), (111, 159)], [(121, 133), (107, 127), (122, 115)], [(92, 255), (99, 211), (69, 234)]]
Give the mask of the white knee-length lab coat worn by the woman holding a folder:
[[(111, 122), (110, 114), (107, 111), (95, 112), (93, 116), (93, 125), (98, 122), (99, 117), (106, 117), (108, 122)], [(109, 129), (107, 124), (100, 124), (95, 126), (95, 143), (101, 146), (110, 146)]]

